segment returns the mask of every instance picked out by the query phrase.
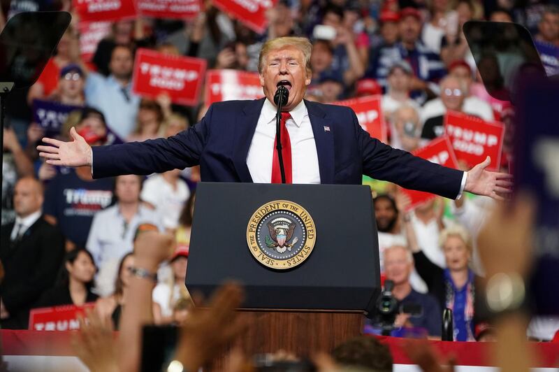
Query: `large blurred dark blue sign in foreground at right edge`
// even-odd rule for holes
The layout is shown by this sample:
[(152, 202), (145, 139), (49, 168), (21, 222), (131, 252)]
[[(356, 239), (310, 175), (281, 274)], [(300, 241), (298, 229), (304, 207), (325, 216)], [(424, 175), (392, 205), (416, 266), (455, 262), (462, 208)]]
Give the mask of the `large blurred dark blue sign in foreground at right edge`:
[(516, 188), (537, 200), (530, 286), (538, 313), (559, 314), (559, 80), (526, 76), (518, 99)]

